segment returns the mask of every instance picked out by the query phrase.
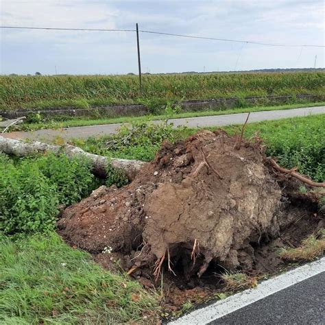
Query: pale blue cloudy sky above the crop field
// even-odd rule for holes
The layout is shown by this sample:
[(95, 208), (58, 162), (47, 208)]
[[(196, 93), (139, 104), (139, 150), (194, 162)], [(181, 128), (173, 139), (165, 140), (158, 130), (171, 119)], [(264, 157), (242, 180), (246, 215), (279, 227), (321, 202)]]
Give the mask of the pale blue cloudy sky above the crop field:
[[(287, 45), (325, 45), (323, 0), (0, 0), (0, 25), (139, 29)], [(143, 73), (310, 68), (324, 47), (140, 33)], [(0, 74), (137, 73), (134, 32), (0, 29)]]

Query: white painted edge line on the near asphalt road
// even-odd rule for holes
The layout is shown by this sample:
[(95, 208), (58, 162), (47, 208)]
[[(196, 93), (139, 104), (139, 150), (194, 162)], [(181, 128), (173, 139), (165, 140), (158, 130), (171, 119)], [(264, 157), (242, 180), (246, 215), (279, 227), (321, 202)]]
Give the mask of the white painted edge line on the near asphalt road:
[(298, 282), (311, 278), (325, 271), (325, 257), (319, 261), (309, 263), (293, 269), (285, 274), (276, 276), (261, 282), (255, 289), (248, 289), (224, 300), (219, 300), (215, 304), (197, 309), (188, 315), (180, 317), (178, 320), (169, 322), (173, 325), (202, 325), (217, 320), (224, 315), (237, 311), (253, 302), (261, 300), (278, 291), (296, 285)]

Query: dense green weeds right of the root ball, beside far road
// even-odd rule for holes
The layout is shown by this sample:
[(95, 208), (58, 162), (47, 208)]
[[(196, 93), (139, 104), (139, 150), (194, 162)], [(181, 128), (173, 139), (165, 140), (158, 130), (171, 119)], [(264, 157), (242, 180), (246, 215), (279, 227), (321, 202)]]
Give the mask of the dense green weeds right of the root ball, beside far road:
[(317, 182), (325, 180), (325, 115), (310, 115), (278, 121), (253, 123), (245, 128), (245, 136), (258, 132), (267, 145), (266, 154), (276, 157), (287, 168), (298, 171)]

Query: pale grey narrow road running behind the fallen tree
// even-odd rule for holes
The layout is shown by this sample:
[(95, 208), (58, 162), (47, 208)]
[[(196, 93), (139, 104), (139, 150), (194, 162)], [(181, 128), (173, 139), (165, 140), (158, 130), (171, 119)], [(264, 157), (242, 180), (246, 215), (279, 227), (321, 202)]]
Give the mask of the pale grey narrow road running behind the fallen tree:
[[(304, 117), (308, 115), (325, 114), (325, 106), (309, 107), (309, 108), (295, 108), (292, 110), (269, 110), (265, 112), (252, 112), (248, 123), (286, 119), (288, 117)], [(169, 123), (173, 123), (175, 127), (178, 125), (187, 125), (189, 128), (209, 127), (209, 126), (224, 126), (231, 124), (242, 124), (245, 122), (247, 113), (217, 115), (210, 117), (191, 117), (186, 119), (171, 119)], [(160, 121), (155, 121), (159, 123)], [(12, 132), (5, 136), (14, 139), (32, 139), (43, 141), (45, 139), (51, 140), (60, 136), (64, 140), (73, 138), (86, 139), (89, 136), (103, 136), (105, 134), (116, 133), (120, 123), (106, 124), (106, 125), (92, 125), (75, 128), (64, 128), (63, 130), (38, 130), (34, 132)]]

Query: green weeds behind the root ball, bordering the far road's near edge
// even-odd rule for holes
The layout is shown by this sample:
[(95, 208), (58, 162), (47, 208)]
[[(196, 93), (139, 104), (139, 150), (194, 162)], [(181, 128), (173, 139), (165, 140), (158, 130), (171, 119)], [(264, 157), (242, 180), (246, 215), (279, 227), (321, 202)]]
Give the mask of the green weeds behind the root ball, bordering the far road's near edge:
[[(149, 161), (154, 158), (159, 149), (161, 138), (175, 142), (197, 132), (197, 129), (171, 130), (165, 126), (163, 129), (160, 128), (160, 136), (154, 136), (158, 132), (158, 127), (150, 125), (147, 132), (145, 124), (145, 122), (136, 122), (133, 127), (130, 127), (129, 132), (125, 127), (116, 135), (71, 142), (94, 154)], [(325, 115), (264, 121), (246, 125), (245, 137), (250, 138), (259, 132), (267, 145), (267, 155), (278, 158), (280, 165), (287, 168), (297, 166), (300, 173), (316, 181), (323, 181), (325, 179), (324, 125)], [(215, 128), (208, 129), (215, 130)], [(224, 130), (231, 134), (239, 133), (240, 127), (232, 125), (225, 127)], [(125, 137), (128, 139), (126, 143)]]

